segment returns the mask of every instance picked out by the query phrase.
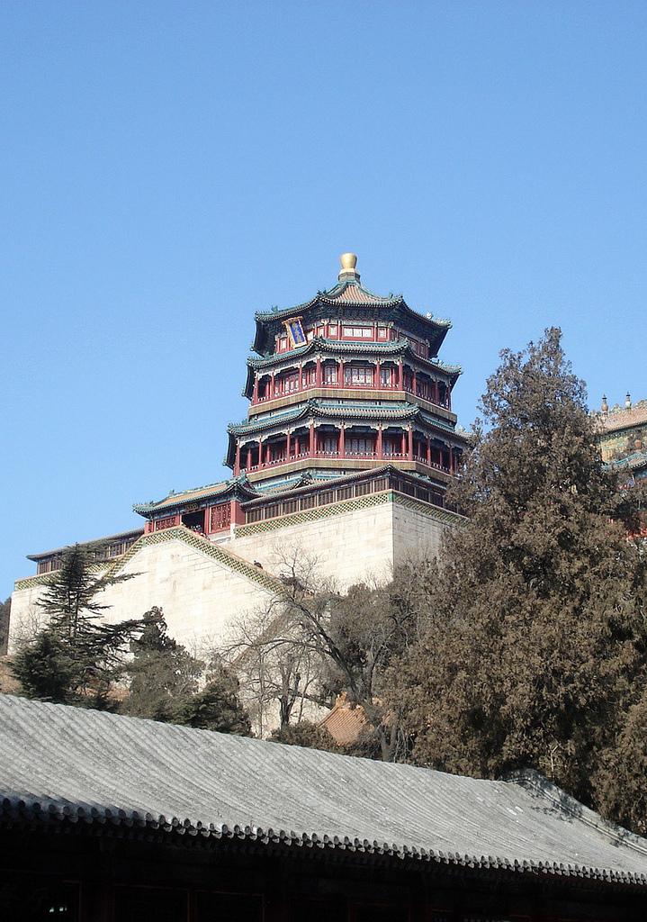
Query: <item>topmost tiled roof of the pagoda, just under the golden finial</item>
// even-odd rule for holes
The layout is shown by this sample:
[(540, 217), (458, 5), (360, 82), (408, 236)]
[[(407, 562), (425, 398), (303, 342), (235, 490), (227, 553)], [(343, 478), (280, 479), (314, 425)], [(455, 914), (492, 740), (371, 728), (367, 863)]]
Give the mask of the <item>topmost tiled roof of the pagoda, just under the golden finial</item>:
[[(359, 278), (345, 278), (333, 288), (317, 291), (310, 301), (303, 301), (294, 307), (260, 311), (254, 314), (256, 321), (256, 335), (253, 341), (253, 350), (259, 355), (266, 355), (274, 347), (273, 337), (282, 327), (283, 321), (291, 317), (307, 317), (312, 313), (324, 311), (343, 317), (352, 316), (358, 309), (374, 309), (381, 311), (378, 316), (384, 318), (399, 315), (403, 320), (416, 326), (420, 335), (426, 335), (435, 353), (440, 349), (442, 340), (452, 323), (444, 318), (432, 318), (418, 311), (412, 310), (401, 294), (389, 294), (385, 297), (374, 294), (365, 288)], [(391, 313), (389, 313), (391, 312)]]

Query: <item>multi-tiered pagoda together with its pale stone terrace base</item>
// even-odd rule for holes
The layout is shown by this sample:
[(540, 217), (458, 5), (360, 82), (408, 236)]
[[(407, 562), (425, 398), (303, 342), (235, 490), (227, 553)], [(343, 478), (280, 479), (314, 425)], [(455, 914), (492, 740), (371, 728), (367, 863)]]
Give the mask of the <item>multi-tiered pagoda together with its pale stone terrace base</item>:
[[(211, 642), (241, 612), (271, 609), (287, 553), (311, 554), (344, 591), (435, 554), (463, 521), (446, 501), (467, 444), (452, 409), (460, 368), (438, 358), (449, 321), (373, 294), (344, 254), (332, 288), (255, 323), (229, 479), (139, 502), (142, 527), (88, 542), (98, 573), (133, 577), (105, 591), (106, 617), (157, 606), (179, 641)], [(10, 646), (63, 550), (30, 556), (38, 572), (16, 583)]]

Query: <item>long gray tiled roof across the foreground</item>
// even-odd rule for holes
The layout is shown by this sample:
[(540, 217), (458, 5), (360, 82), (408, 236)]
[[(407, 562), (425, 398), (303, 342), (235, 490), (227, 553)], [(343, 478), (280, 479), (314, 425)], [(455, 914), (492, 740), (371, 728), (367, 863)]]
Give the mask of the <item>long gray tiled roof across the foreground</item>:
[(647, 841), (536, 774), (481, 781), (0, 696), (0, 818), (79, 815), (647, 886)]

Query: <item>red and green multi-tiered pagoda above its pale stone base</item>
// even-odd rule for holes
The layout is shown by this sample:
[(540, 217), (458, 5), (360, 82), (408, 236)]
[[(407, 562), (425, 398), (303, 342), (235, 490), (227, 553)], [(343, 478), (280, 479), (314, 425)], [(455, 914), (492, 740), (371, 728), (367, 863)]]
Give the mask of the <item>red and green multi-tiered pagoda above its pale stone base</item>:
[(452, 410), (461, 369), (438, 358), (448, 320), (374, 294), (346, 253), (333, 288), (256, 313), (255, 323), (247, 419), (228, 427), (233, 477), (135, 505), (147, 533), (185, 525), (216, 538), (232, 524), (335, 502), (350, 483), (372, 491), (384, 477), (445, 505), (466, 444)]

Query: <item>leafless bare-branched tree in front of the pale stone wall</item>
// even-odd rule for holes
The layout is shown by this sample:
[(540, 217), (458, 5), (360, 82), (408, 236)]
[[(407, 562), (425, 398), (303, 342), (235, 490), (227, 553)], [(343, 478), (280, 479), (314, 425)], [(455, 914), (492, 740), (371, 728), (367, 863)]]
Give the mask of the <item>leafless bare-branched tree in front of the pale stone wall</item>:
[(389, 585), (356, 585), (341, 594), (299, 548), (284, 550), (279, 561), (283, 590), (238, 621), (227, 651), (260, 707), (263, 732), (270, 704), (286, 727), (304, 705), (330, 706), (345, 691), (351, 705), (362, 707), (382, 759), (402, 757), (401, 722), (382, 703), (381, 683), (392, 657), (418, 636), (413, 596), (426, 564), (400, 568)]

